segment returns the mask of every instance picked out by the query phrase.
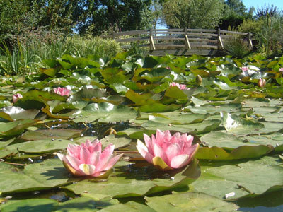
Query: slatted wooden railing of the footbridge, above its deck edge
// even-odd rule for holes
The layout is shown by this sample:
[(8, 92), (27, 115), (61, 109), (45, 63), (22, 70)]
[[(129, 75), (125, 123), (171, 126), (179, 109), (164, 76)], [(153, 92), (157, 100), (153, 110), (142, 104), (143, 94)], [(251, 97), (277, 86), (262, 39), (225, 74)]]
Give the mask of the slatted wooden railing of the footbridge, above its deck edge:
[[(253, 49), (252, 33), (220, 29), (150, 29), (114, 32), (112, 34), (112, 38), (117, 42), (143, 42), (139, 45), (149, 46), (150, 51), (156, 50), (156, 47), (178, 47), (179, 49), (184, 47), (185, 50), (204, 48), (216, 51), (224, 49), (224, 42), (235, 37), (246, 37), (248, 46)], [(181, 41), (183, 43), (180, 43)], [(147, 44), (145, 44), (146, 42)]]

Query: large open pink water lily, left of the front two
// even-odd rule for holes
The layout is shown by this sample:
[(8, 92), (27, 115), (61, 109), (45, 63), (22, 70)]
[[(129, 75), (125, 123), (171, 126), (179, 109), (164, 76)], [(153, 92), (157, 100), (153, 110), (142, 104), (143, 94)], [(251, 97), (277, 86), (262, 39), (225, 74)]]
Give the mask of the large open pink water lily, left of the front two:
[(110, 170), (123, 154), (113, 156), (115, 146), (110, 143), (101, 152), (101, 142), (96, 139), (81, 145), (69, 144), (67, 155), (57, 153), (64, 167), (76, 176), (100, 177)]

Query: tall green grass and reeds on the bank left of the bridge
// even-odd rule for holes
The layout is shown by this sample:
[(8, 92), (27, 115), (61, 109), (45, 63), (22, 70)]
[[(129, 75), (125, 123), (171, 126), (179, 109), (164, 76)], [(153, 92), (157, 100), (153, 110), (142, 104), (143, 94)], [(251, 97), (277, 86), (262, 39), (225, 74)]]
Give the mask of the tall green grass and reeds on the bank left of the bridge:
[(36, 73), (43, 59), (56, 59), (64, 54), (78, 57), (114, 57), (120, 52), (120, 45), (115, 40), (100, 37), (80, 37), (78, 35), (59, 36), (54, 39), (19, 40), (10, 49), (4, 42), (0, 43), (0, 74), (18, 75)]

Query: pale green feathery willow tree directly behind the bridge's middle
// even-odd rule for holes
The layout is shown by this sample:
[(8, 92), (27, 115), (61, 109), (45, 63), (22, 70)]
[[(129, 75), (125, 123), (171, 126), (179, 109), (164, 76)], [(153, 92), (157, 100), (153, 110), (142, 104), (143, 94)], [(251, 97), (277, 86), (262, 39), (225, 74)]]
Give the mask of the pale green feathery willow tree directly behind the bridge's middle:
[(163, 14), (169, 28), (215, 28), (223, 14), (221, 0), (168, 0)]

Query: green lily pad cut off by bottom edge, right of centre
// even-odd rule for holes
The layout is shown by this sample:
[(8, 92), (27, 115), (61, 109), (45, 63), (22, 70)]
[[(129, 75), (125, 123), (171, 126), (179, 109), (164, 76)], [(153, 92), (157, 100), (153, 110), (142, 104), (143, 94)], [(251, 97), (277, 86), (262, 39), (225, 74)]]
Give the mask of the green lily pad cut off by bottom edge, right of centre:
[(155, 211), (236, 211), (238, 206), (207, 194), (192, 192), (145, 197)]

